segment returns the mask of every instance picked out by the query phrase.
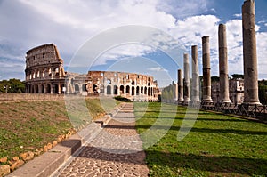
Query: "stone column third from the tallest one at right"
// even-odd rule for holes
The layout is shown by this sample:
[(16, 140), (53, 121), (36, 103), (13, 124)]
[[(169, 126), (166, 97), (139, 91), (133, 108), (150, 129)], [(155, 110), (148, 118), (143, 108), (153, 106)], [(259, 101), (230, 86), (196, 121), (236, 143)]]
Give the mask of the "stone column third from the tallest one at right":
[(202, 37), (202, 62), (203, 62), (203, 100), (202, 101), (213, 102), (211, 98), (209, 36)]

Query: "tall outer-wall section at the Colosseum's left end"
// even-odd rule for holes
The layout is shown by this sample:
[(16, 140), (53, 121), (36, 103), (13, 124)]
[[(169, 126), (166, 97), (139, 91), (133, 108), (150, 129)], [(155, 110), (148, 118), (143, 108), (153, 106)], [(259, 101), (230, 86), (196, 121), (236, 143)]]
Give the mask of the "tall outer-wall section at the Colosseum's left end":
[(37, 46), (26, 55), (26, 93), (61, 93), (65, 72), (54, 44)]

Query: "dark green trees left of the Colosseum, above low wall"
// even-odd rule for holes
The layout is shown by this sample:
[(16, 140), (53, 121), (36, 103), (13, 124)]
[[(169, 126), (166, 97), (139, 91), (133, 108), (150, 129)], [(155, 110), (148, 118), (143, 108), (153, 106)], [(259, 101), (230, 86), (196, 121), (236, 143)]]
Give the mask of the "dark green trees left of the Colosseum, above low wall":
[(25, 93), (25, 81), (16, 78), (0, 81), (0, 93)]

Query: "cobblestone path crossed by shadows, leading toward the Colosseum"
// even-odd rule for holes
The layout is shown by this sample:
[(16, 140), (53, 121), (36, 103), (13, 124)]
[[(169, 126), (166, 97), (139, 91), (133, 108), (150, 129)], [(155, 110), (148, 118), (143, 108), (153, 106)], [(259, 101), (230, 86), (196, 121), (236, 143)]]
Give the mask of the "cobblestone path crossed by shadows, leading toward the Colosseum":
[(134, 125), (134, 106), (127, 103), (59, 176), (148, 176)]

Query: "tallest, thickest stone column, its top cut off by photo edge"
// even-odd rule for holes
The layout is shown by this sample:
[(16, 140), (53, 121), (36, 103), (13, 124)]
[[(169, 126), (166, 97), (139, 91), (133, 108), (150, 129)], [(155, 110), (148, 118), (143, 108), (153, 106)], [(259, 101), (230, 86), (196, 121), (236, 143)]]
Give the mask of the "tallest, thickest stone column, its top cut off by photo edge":
[(258, 70), (255, 39), (255, 1), (242, 6), (244, 104), (260, 104), (258, 97)]

